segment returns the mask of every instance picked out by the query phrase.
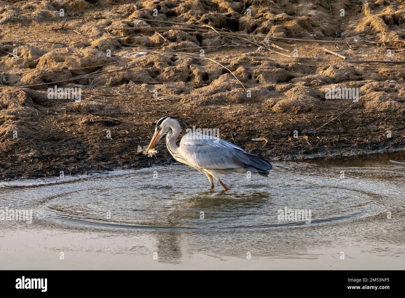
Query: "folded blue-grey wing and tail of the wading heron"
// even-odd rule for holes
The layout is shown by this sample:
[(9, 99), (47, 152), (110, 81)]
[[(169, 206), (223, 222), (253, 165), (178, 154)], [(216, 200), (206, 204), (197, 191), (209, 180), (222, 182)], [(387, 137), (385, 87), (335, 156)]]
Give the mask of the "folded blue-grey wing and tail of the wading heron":
[(264, 158), (217, 137), (188, 133), (181, 138), (180, 153), (196, 167), (205, 169), (255, 168), (268, 174), (271, 164)]

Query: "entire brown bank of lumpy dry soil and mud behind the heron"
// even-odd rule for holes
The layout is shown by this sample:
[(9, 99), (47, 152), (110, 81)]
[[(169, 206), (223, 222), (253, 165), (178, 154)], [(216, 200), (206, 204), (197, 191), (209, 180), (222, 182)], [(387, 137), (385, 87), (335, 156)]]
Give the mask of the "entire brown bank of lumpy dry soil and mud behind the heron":
[[(271, 160), (405, 144), (403, 64), (351, 62), (405, 60), (402, 1), (10, 0), (0, 25), (2, 180), (171, 162), (164, 142), (136, 153), (168, 115)], [(55, 84), (82, 101), (48, 99)]]

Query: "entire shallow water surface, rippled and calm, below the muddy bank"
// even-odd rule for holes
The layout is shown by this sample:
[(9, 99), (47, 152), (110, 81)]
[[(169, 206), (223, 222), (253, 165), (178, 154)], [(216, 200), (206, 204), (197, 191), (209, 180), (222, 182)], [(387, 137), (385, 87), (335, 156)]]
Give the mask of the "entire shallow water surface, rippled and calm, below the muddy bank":
[(274, 162), (226, 192), (184, 165), (3, 182), (0, 209), (33, 218), (0, 221), (0, 266), (403, 269), (404, 157)]

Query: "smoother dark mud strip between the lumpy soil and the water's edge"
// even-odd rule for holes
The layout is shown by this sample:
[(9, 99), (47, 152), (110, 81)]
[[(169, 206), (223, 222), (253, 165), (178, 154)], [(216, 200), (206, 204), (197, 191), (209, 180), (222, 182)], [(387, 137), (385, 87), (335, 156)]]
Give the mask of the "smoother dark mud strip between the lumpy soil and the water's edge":
[[(291, 116), (254, 104), (224, 108), (157, 103), (153, 99), (139, 100), (142, 92), (136, 86), (103, 90), (101, 95), (94, 90), (94, 103), (47, 103), (45, 107), (40, 106), (44, 97), (36, 97), (41, 92), (13, 89), (11, 93), (21, 101), (15, 108), (19, 116), (3, 118), (7, 130), (2, 132), (1, 141), (2, 179), (169, 163), (172, 159), (163, 141), (158, 146), (157, 158), (136, 152), (138, 144), (149, 142), (156, 120), (162, 115), (178, 116), (189, 126), (219, 128), (222, 138), (271, 160), (339, 158), (395, 150), (404, 143), (403, 119), (367, 112), (364, 108), (353, 109), (339, 117), (340, 121), (310, 134), (309, 131), (330, 118), (328, 112)], [(115, 105), (111, 105), (111, 98), (115, 99)], [(387, 129), (392, 131), (391, 138), (386, 136)], [(13, 131), (17, 131), (17, 138), (13, 138)], [(294, 131), (298, 131), (297, 138)], [(258, 137), (264, 137), (267, 143), (252, 141)]]

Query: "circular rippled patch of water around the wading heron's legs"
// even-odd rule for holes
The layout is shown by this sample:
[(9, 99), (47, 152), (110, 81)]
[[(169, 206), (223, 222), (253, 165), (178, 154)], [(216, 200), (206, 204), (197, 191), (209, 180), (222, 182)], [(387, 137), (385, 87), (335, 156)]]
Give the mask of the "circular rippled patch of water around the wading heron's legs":
[[(205, 175), (181, 165), (62, 183), (3, 185), (1, 192), (11, 193), (14, 203), (34, 208), (38, 219), (94, 228), (294, 228), (305, 226), (309, 216), (311, 225), (325, 225), (384, 217), (388, 209), (398, 209), (405, 176), (392, 167), (275, 163), (270, 178), (223, 176), (231, 189), (223, 192), (219, 185), (209, 190)], [(279, 210), (285, 208), (304, 210), (307, 217), (280, 221)]]

